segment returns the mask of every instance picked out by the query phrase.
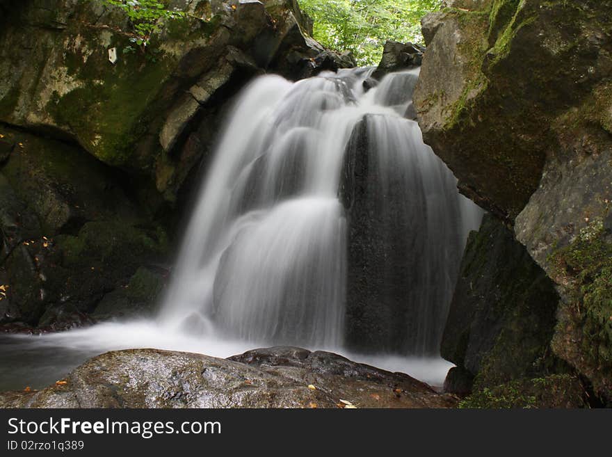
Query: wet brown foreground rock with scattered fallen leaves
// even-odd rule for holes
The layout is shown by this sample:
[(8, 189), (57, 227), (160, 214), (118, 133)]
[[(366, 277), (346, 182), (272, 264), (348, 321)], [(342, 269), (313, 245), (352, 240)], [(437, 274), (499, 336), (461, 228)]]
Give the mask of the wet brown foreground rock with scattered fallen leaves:
[(449, 408), (456, 399), (405, 374), (292, 347), (257, 349), (227, 360), (155, 349), (116, 351), (88, 360), (40, 392), (0, 394), (1, 408), (344, 408), (347, 404)]

